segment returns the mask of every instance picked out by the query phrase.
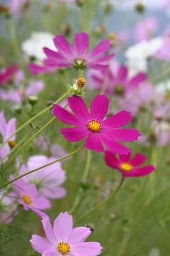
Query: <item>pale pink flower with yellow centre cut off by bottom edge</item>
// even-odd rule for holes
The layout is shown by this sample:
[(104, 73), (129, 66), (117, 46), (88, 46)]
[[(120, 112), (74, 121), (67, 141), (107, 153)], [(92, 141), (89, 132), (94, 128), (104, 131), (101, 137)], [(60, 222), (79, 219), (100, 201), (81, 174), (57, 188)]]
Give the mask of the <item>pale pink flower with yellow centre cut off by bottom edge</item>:
[(33, 235), (30, 240), (36, 252), (43, 256), (97, 256), (102, 246), (97, 242), (85, 242), (91, 234), (89, 228), (73, 228), (72, 216), (61, 212), (52, 228), (49, 218), (43, 218), (43, 229), (46, 237)]

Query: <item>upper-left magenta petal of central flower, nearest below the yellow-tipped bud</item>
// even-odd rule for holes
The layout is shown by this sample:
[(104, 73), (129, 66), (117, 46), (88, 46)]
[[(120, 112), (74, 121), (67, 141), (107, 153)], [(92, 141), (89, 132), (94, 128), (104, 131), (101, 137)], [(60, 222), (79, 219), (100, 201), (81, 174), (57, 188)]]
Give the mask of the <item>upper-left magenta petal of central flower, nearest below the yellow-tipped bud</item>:
[(72, 97), (68, 97), (68, 106), (72, 111), (75, 113), (75, 115), (79, 116), (79, 118), (83, 118), (84, 120), (89, 120), (89, 112), (86, 107), (86, 104), (84, 104), (84, 100), (82, 100), (81, 97), (73, 95)]

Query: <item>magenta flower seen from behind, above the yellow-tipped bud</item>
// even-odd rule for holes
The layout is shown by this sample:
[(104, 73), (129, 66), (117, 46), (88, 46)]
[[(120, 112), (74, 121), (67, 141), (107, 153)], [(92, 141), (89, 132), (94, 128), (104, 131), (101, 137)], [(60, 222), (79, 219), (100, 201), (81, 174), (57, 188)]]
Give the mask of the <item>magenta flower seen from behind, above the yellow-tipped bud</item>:
[(29, 65), (33, 74), (38, 74), (38, 71), (50, 72), (62, 67), (98, 69), (107, 66), (108, 61), (114, 56), (113, 53), (105, 55), (105, 52), (111, 49), (108, 39), (103, 40), (92, 51), (89, 51), (89, 36), (84, 32), (75, 35), (73, 45), (69, 44), (65, 36), (58, 35), (54, 38), (54, 45), (56, 51), (47, 47), (43, 48), (47, 56), (47, 59), (43, 61), (44, 67), (36, 64)]

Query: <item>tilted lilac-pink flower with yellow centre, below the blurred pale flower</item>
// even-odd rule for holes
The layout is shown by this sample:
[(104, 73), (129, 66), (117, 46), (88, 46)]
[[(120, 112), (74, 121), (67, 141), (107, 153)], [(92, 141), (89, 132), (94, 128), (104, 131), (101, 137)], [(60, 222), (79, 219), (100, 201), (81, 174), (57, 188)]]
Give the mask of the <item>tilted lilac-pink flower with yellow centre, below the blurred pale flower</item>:
[(13, 189), (19, 196), (18, 202), (24, 210), (31, 210), (40, 217), (48, 217), (42, 210), (50, 209), (50, 201), (38, 195), (35, 184), (26, 184), (24, 179), (19, 179), (13, 182)]

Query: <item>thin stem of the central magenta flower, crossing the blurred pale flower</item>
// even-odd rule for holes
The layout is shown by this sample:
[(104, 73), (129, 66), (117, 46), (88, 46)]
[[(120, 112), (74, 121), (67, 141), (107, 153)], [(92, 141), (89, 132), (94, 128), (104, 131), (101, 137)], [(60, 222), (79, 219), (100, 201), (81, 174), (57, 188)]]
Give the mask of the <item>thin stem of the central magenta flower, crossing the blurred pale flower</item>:
[(67, 157), (73, 156), (74, 154), (76, 154), (77, 152), (79, 152), (83, 147), (84, 147), (84, 144), (81, 145), (81, 147), (77, 148), (75, 151), (73, 151), (73, 152), (67, 154), (66, 156), (59, 157), (58, 159), (56, 159), (55, 161), (53, 161), (53, 162), (51, 162), (51, 163), (49, 163), (49, 164), (44, 164), (44, 165), (42, 165), (42, 166), (40, 166), (40, 167), (38, 167), (38, 168), (35, 168), (34, 170), (31, 170), (31, 171), (29, 171), (29, 172), (26, 172), (26, 173), (20, 175), (19, 177), (15, 178), (15, 179), (13, 179), (13, 180), (10, 180), (9, 182), (6, 182), (3, 186), (0, 187), (0, 189), (2, 189), (2, 188), (4, 188), (4, 187), (8, 186), (9, 184), (13, 183), (14, 181), (19, 180), (20, 178), (22, 178), (22, 177), (24, 177), (24, 176), (26, 176), (26, 175), (28, 175), (28, 174), (30, 174), (30, 173), (36, 172), (36, 171), (41, 170), (42, 168), (45, 168), (45, 167), (47, 167), (47, 166), (49, 166), (49, 165), (51, 165), (51, 164), (55, 164), (55, 163), (57, 163), (57, 162), (59, 162), (59, 161), (65, 159), (65, 158), (67, 158)]

